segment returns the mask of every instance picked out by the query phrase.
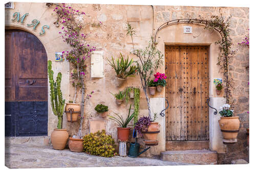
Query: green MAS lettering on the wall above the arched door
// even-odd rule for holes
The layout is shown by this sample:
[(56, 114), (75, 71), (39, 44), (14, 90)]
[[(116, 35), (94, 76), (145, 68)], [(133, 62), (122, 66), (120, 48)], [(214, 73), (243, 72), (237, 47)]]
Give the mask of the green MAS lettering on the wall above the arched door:
[[(19, 12), (14, 12), (13, 13), (13, 19), (11, 19), (12, 21), (15, 21), (17, 20), (17, 22), (20, 21), (20, 23), (24, 23), (24, 19), (25, 17), (28, 15), (29, 13), (26, 13), (24, 14), (21, 18), (19, 17), (20, 16), (20, 13)], [(33, 19), (31, 21), (31, 24), (27, 24), (28, 27), (32, 27), (33, 26), (33, 29), (36, 30), (36, 27), (39, 25), (40, 21), (37, 20), (37, 19)], [(44, 25), (41, 27), (41, 32), (39, 33), (40, 36), (42, 35), (45, 35), (46, 31), (45, 31), (45, 28), (49, 29), (50, 27), (48, 25)]]

